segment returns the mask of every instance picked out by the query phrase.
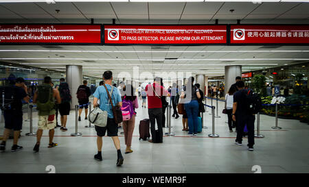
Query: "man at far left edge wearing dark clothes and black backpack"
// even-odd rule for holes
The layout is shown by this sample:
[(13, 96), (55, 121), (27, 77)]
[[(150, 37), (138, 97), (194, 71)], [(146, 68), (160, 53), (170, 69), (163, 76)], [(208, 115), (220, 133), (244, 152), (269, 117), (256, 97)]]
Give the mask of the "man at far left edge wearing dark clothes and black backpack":
[(1, 110), (3, 110), (5, 123), (0, 151), (5, 151), (6, 140), (8, 140), (10, 132), (14, 130), (14, 140), (11, 151), (16, 152), (23, 149), (23, 147), (17, 145), (23, 125), (23, 103), (21, 100), (28, 103), (30, 97), (27, 94), (27, 86), (25, 86), (25, 80), (23, 78), (17, 78), (15, 84), (13, 84), (13, 81), (10, 83), (10, 86), (4, 86), (0, 89)]

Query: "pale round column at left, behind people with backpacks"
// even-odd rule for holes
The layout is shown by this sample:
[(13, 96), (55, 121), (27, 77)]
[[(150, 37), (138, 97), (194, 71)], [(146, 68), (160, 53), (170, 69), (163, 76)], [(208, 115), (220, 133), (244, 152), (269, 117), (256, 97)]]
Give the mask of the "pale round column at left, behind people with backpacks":
[(71, 109), (75, 108), (75, 105), (78, 105), (78, 99), (76, 97), (76, 92), (78, 90), (78, 86), (82, 84), (82, 66), (71, 66), (67, 65), (67, 84), (69, 84), (69, 88), (71, 90), (72, 95), (72, 103)]

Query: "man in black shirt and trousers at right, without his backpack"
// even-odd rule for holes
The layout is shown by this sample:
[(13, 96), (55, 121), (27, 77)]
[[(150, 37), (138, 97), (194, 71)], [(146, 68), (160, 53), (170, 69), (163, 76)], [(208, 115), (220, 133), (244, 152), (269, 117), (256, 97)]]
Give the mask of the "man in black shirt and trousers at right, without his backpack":
[(246, 102), (247, 90), (244, 90), (244, 82), (236, 82), (238, 91), (233, 95), (233, 121), (236, 121), (237, 138), (236, 145), (242, 145), (242, 134), (244, 133), (244, 125), (248, 129), (248, 147), (249, 151), (253, 151), (254, 145), (254, 121), (255, 115), (249, 113), (249, 106)]

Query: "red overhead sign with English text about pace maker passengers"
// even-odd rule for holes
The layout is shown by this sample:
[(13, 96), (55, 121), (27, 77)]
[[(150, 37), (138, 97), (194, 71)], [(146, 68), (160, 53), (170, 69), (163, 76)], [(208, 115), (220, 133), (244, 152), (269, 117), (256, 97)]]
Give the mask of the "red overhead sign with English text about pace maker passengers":
[(104, 43), (115, 45), (226, 44), (226, 25), (104, 25)]

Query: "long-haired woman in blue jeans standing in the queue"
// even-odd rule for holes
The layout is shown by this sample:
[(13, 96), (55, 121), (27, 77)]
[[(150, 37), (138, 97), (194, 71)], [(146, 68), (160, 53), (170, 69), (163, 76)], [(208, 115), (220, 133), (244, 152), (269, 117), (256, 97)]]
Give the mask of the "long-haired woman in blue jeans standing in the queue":
[(198, 99), (201, 98), (200, 92), (193, 85), (194, 77), (189, 77), (187, 85), (181, 92), (181, 99), (185, 98), (185, 112), (187, 113), (187, 122), (189, 125), (190, 136), (197, 136), (198, 130)]

